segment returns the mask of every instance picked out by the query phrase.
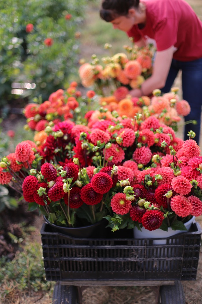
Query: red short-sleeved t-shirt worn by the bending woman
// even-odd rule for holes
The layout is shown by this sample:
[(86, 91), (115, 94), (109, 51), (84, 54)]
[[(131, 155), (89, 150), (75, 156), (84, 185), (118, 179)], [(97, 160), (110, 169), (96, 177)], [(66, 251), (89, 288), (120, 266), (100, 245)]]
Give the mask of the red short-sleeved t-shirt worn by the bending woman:
[(141, 37), (156, 41), (157, 50), (172, 45), (173, 58), (191, 61), (202, 57), (202, 22), (184, 0), (143, 0), (147, 21), (144, 28), (134, 25), (128, 32), (134, 41)]

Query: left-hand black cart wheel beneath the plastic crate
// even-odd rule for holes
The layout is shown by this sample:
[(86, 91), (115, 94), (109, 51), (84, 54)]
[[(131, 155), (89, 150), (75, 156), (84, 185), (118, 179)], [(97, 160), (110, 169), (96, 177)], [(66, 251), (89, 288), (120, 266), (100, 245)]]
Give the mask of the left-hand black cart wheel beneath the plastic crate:
[(78, 304), (78, 293), (76, 286), (55, 284), (53, 290), (53, 304)]

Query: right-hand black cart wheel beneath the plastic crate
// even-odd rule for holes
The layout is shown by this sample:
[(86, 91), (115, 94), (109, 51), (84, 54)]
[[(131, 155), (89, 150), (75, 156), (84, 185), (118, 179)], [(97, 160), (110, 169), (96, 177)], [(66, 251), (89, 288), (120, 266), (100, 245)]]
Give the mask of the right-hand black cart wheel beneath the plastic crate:
[(185, 304), (184, 290), (180, 281), (175, 285), (164, 285), (160, 288), (162, 304)]

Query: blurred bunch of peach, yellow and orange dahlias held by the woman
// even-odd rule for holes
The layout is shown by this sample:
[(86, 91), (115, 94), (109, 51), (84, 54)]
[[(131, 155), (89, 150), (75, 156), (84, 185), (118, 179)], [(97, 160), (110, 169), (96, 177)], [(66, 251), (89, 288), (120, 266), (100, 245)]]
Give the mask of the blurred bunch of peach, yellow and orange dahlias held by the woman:
[[(105, 48), (111, 46), (106, 43)], [(138, 48), (124, 46), (125, 53), (102, 58), (94, 54), (91, 62), (81, 64), (79, 76), (84, 87), (93, 86), (95, 91), (102, 96), (109, 95), (120, 86), (128, 89), (139, 88), (152, 74), (152, 63), (155, 48), (152, 44)]]

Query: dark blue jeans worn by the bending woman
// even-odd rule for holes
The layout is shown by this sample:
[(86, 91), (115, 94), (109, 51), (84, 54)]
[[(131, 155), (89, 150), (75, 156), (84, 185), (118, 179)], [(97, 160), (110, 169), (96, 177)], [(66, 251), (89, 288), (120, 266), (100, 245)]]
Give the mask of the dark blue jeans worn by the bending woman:
[(184, 128), (184, 140), (189, 139), (187, 136), (190, 130), (196, 133), (196, 140), (200, 139), (200, 116), (202, 105), (202, 58), (193, 61), (172, 60), (171, 68), (168, 73), (167, 81), (162, 93), (170, 92), (173, 82), (179, 70), (182, 70), (182, 92), (183, 99), (187, 100), (191, 107), (189, 115), (185, 116), (185, 121), (196, 120), (197, 125), (189, 123)]

